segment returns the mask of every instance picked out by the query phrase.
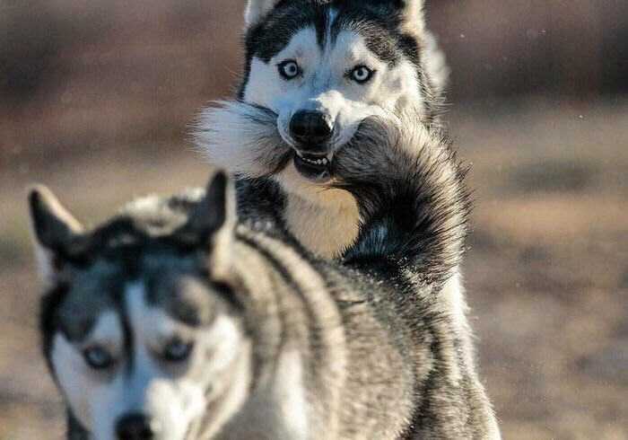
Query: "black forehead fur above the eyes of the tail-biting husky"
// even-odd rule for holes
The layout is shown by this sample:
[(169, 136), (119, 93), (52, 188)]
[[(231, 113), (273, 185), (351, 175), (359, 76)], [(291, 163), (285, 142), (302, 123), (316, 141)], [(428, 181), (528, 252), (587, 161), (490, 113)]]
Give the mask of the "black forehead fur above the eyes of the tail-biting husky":
[(394, 16), (375, 13), (356, 2), (318, 4), (296, 1), (284, 4), (249, 33), (249, 57), (268, 63), (304, 29), (314, 30), (318, 48), (336, 44), (338, 35), (350, 31), (361, 36), (367, 47), (381, 59), (394, 63), (400, 56), (401, 41)]

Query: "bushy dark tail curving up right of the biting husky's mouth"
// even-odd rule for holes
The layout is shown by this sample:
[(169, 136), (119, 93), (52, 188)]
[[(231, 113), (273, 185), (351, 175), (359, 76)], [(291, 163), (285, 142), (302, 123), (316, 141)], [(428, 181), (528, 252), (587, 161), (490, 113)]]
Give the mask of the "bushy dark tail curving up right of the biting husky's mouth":
[(362, 214), (347, 261), (388, 261), (444, 283), (458, 266), (468, 230), (467, 169), (446, 134), (416, 119), (363, 123), (336, 154), (337, 185), (353, 193)]

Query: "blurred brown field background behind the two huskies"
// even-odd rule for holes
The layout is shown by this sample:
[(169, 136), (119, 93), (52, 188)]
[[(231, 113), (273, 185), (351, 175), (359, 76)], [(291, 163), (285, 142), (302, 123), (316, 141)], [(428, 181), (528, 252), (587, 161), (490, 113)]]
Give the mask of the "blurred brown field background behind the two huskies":
[[(205, 182), (196, 111), (240, 70), (234, 0), (0, 0), (0, 440), (63, 438), (24, 196), (89, 222)], [(427, 0), (473, 163), (465, 272), (505, 438), (628, 438), (628, 2)]]

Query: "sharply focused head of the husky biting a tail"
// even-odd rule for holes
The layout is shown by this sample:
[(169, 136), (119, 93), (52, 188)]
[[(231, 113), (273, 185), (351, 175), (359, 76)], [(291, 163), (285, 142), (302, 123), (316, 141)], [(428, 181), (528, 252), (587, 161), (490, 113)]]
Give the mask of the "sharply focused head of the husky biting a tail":
[[(201, 146), (214, 163), (253, 175), (283, 173), (294, 189), (298, 180), (333, 177), (334, 155), (365, 119), (400, 110), (426, 125), (437, 118), (445, 69), (424, 30), (421, 0), (250, 0), (245, 18), (240, 101), (275, 115), (283, 149), (275, 154), (248, 142), (254, 128), (233, 131), (233, 114), (207, 110), (201, 128), (218, 135)], [(231, 149), (237, 142), (253, 151)], [(266, 166), (269, 154), (276, 155), (273, 166)]]

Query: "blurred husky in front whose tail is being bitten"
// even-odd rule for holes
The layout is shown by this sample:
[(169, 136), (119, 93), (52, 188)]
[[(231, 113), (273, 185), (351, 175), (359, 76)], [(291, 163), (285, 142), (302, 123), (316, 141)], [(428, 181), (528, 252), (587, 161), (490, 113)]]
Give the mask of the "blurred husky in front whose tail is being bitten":
[(464, 171), (421, 127), (369, 124), (336, 157), (364, 219), (342, 262), (236, 222), (222, 172), (92, 230), (31, 192), (70, 438), (499, 438), (434, 295), (462, 255)]

